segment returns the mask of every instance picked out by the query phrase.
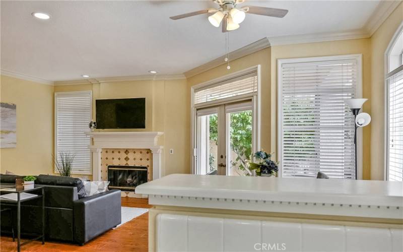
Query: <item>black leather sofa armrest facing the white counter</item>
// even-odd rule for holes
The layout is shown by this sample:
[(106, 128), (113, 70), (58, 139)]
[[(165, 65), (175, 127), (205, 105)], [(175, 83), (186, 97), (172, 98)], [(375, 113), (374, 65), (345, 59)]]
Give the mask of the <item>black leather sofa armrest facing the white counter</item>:
[(120, 190), (74, 201), (74, 240), (79, 244), (84, 244), (120, 222)]

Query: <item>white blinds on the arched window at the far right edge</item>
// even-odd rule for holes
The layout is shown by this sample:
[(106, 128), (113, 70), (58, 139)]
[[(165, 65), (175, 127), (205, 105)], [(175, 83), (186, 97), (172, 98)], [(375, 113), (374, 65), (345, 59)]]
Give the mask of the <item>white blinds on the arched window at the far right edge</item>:
[(403, 181), (403, 71), (388, 79), (388, 178)]

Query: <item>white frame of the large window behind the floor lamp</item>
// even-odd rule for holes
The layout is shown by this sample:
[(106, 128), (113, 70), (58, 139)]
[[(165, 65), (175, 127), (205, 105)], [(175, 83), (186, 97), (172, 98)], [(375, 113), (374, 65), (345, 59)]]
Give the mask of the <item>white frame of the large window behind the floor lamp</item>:
[[(332, 56), (317, 56), (317, 57), (300, 57), (300, 58), (279, 58), (277, 59), (277, 158), (279, 163), (278, 176), (283, 177), (283, 169), (281, 160), (283, 160), (283, 134), (282, 134), (282, 97), (283, 97), (283, 74), (282, 65), (290, 63), (304, 63), (315, 61), (329, 61), (329, 60), (357, 60), (357, 83), (356, 83), (356, 97), (362, 98), (362, 54), (346, 54), (346, 55), (332, 55)], [(362, 157), (363, 157), (363, 133), (362, 130), (357, 130), (357, 179), (362, 179)]]

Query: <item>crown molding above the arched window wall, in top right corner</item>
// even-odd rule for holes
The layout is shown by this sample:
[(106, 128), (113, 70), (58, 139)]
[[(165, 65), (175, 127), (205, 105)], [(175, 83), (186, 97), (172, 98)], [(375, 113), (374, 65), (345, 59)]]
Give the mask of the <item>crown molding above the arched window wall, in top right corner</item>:
[(381, 1), (374, 13), (364, 26), (369, 36), (372, 36), (379, 26), (389, 17), (389, 15), (399, 6), (402, 1)]

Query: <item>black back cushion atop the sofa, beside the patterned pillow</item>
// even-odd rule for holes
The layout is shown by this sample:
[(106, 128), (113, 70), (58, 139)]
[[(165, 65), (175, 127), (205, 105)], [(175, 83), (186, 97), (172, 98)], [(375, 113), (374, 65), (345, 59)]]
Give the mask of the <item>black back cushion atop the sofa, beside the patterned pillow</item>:
[(35, 183), (46, 185), (75, 186), (77, 187), (77, 194), (79, 196), (79, 199), (87, 196), (83, 181), (81, 181), (80, 178), (40, 174), (36, 177)]

